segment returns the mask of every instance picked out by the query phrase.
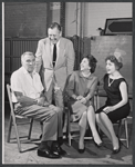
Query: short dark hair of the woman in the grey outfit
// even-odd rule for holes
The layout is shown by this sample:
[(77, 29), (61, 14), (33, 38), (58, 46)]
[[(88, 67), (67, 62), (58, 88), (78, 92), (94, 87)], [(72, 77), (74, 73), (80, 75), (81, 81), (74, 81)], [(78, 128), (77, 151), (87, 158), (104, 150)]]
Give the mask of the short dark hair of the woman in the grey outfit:
[(92, 55), (87, 55), (84, 58), (89, 60), (89, 66), (91, 67), (90, 71), (93, 73), (95, 71), (97, 60)]

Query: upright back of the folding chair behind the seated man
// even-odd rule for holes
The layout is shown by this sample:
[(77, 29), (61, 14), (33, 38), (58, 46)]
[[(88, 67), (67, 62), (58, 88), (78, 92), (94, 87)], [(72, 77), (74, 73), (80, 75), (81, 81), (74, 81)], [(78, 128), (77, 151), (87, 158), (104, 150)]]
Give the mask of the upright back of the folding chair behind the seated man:
[(10, 85), (7, 85), (7, 91), (8, 91), (8, 98), (9, 98), (11, 115), (14, 118), (15, 116), (14, 116), (13, 102), (12, 102), (12, 90), (11, 90), (11, 86)]

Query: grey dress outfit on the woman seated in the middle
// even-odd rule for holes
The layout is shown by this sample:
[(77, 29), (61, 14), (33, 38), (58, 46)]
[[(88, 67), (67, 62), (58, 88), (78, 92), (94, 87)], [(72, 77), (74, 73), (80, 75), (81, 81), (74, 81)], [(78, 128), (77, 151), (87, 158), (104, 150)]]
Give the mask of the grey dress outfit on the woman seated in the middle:
[[(70, 97), (68, 104), (72, 114), (72, 121), (77, 121), (82, 114), (86, 111), (86, 108), (93, 105), (93, 96), (97, 88), (97, 81), (98, 79), (94, 73), (91, 73), (87, 78), (84, 77), (80, 70), (73, 71), (71, 75), (66, 87), (66, 94)], [(86, 105), (79, 104), (72, 98), (73, 95), (87, 97), (89, 100)]]

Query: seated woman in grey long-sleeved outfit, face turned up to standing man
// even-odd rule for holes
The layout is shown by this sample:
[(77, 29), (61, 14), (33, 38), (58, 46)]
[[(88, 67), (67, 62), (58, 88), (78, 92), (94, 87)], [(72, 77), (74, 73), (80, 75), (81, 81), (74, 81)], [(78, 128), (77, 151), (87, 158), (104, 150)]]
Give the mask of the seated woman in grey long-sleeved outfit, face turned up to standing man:
[(93, 75), (96, 68), (96, 59), (93, 56), (86, 56), (82, 59), (80, 70), (74, 71), (69, 78), (66, 94), (70, 97), (69, 106), (72, 112), (73, 121), (79, 121), (80, 139), (79, 153), (84, 153), (84, 135), (89, 120), (90, 128), (96, 146), (102, 145), (102, 140), (95, 127), (94, 112), (94, 92), (97, 88), (97, 77)]

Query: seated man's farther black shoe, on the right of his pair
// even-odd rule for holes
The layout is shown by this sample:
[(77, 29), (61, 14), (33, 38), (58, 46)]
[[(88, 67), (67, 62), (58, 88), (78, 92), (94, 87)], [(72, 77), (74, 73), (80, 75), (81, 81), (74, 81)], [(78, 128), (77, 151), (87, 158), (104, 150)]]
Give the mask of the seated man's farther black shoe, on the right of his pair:
[(66, 155), (66, 151), (63, 150), (58, 144), (52, 144), (51, 150), (52, 150), (52, 153), (56, 153), (60, 156)]

